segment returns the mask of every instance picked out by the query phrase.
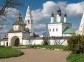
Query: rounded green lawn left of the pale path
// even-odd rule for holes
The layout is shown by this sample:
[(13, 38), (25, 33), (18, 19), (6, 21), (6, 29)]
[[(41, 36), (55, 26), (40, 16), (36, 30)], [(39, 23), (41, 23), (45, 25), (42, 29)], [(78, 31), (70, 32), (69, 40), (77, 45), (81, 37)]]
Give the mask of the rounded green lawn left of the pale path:
[(23, 55), (23, 52), (12, 47), (0, 47), (0, 59), (1, 58), (9, 58), (9, 57), (17, 57)]

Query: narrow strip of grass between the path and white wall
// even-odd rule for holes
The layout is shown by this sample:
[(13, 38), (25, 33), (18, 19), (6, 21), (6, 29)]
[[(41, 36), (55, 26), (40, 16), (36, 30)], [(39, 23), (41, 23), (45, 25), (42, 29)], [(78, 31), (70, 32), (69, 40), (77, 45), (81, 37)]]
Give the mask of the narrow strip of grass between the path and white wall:
[(46, 48), (46, 49), (63, 49), (68, 50), (67, 46), (63, 45), (28, 45), (29, 48)]

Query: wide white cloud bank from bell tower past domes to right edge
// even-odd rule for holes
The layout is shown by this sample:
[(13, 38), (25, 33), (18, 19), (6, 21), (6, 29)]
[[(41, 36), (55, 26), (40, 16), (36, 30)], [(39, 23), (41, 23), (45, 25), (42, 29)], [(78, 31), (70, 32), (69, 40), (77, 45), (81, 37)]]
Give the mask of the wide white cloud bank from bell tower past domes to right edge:
[(62, 10), (62, 13), (67, 13), (69, 17), (79, 16), (82, 14), (84, 10), (84, 2), (79, 3), (69, 3), (67, 2), (53, 2), (47, 1), (43, 3), (43, 8), (39, 8), (32, 11), (33, 20), (37, 23), (38, 21), (42, 21), (45, 18), (50, 18), (50, 14), (57, 13), (58, 9)]

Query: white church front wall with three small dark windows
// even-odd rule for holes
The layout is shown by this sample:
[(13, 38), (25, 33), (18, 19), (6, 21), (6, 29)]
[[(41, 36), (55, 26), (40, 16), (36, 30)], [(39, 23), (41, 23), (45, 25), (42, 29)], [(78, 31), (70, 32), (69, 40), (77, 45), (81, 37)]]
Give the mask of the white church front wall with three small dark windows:
[(60, 37), (60, 36), (62, 36), (62, 23), (48, 24), (48, 31), (49, 31), (50, 37), (54, 37), (54, 36), (55, 37)]

